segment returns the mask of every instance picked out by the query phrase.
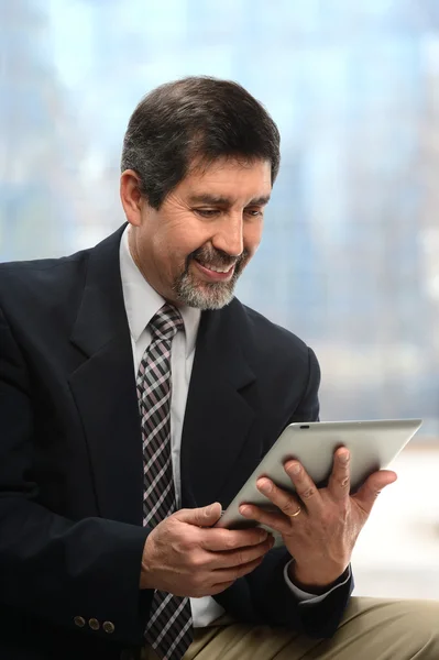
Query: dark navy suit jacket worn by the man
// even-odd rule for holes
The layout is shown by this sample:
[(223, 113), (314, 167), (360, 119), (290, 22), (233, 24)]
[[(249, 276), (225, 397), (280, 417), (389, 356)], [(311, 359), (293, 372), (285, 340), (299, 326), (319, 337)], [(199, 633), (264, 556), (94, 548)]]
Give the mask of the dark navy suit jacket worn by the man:
[[(143, 641), (150, 530), (121, 231), (66, 258), (0, 267), (0, 660), (116, 660)], [(226, 507), (288, 422), (317, 419), (318, 385), (314, 353), (290, 332), (237, 299), (204, 312), (183, 506)], [(331, 635), (352, 585), (299, 606), (288, 560), (272, 550), (217, 601), (241, 620)]]

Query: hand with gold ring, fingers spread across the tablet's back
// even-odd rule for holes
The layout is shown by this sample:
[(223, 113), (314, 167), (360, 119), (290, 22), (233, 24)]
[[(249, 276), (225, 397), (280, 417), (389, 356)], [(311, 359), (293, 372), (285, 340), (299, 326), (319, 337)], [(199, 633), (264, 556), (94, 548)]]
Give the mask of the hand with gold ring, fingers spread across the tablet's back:
[[(345, 448), (334, 452), (328, 486), (317, 488), (297, 461), (287, 461), (285, 471), (297, 495), (278, 488), (270, 479), (257, 481), (257, 488), (281, 512), (265, 512), (243, 505), (240, 513), (278, 531), (295, 561), (290, 564), (294, 583), (317, 593), (334, 582), (347, 569), (358, 536), (380, 492), (396, 481), (388, 470), (374, 472), (355, 495), (350, 496), (350, 454)], [(300, 508), (297, 516), (293, 516)]]

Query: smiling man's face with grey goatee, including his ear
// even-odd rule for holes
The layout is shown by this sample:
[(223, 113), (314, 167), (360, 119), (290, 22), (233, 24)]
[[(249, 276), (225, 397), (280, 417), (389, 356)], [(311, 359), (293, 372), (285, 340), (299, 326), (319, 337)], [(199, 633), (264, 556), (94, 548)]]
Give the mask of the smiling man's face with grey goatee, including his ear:
[(156, 210), (140, 196), (135, 175), (128, 170), (121, 196), (132, 224), (131, 254), (167, 300), (223, 307), (260, 244), (270, 194), (268, 162), (221, 158), (193, 169)]

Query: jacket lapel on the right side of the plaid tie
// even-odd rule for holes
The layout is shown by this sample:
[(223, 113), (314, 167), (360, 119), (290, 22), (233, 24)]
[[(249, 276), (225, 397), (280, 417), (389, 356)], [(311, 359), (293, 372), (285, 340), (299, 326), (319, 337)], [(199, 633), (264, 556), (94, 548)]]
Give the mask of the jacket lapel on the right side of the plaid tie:
[(244, 391), (255, 377), (242, 336), (248, 337), (238, 301), (202, 314), (182, 439), (184, 506), (220, 498), (254, 420)]

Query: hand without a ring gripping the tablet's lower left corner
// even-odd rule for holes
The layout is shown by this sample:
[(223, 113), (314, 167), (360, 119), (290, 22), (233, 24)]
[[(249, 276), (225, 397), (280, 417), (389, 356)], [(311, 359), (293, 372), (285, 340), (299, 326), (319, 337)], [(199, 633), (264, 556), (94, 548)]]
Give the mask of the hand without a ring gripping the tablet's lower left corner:
[(259, 566), (273, 537), (260, 528), (211, 528), (220, 516), (216, 503), (182, 509), (160, 522), (145, 541), (140, 587), (212, 596)]

